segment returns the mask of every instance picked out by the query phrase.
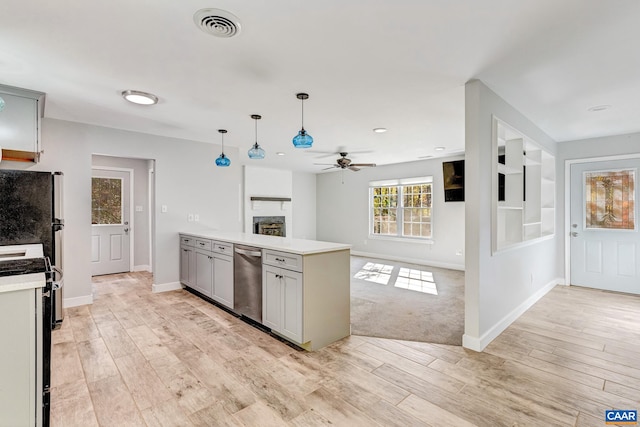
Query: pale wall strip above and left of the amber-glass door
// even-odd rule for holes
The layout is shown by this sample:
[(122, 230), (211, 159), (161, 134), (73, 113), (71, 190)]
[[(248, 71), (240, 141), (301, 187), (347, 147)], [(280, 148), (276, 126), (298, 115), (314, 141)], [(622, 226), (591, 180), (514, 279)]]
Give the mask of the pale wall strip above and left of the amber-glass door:
[[(565, 210), (566, 206), (564, 203), (565, 195), (567, 195), (567, 183), (565, 181), (566, 161), (577, 159), (594, 159), (611, 156), (640, 157), (640, 133), (558, 143), (558, 151), (556, 156), (556, 192), (558, 194), (558, 200), (562, 201), (556, 206), (558, 213), (556, 228), (558, 230), (557, 233), (559, 236), (568, 235), (568, 220), (565, 218), (568, 212), (566, 212)], [(565, 244), (567, 243), (566, 239), (558, 239), (557, 243), (558, 253), (564, 254)], [(564, 265), (562, 274), (566, 276)]]

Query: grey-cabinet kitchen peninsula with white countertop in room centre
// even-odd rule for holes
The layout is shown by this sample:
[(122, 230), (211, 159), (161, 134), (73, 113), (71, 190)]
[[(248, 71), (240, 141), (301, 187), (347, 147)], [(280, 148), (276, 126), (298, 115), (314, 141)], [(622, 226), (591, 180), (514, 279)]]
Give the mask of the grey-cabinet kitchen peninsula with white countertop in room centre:
[(238, 249), (246, 247), (257, 249), (262, 260), (262, 310), (254, 321), (306, 350), (350, 334), (350, 245), (241, 232), (182, 232), (181, 283), (240, 314), (239, 297), (251, 284), (234, 277), (234, 256), (237, 260), (239, 252), (246, 252)]

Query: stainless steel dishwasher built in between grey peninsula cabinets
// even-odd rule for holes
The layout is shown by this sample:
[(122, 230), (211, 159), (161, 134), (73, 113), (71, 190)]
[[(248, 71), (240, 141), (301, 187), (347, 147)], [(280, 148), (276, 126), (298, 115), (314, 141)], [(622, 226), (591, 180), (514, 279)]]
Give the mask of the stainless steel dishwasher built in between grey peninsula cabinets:
[(262, 249), (235, 245), (233, 309), (262, 323)]

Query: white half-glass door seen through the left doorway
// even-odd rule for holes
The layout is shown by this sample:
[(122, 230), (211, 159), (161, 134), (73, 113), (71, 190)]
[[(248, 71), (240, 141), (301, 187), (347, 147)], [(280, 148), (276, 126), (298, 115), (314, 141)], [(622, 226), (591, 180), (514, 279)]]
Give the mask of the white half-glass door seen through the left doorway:
[(130, 265), (128, 171), (93, 169), (91, 180), (91, 274), (122, 273)]

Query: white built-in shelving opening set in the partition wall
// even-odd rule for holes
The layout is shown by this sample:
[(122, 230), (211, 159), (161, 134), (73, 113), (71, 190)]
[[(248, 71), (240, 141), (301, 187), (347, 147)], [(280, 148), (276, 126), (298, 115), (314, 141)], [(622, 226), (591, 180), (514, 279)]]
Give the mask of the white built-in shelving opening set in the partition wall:
[(555, 233), (555, 158), (493, 118), (493, 251)]

